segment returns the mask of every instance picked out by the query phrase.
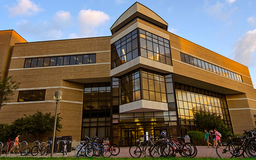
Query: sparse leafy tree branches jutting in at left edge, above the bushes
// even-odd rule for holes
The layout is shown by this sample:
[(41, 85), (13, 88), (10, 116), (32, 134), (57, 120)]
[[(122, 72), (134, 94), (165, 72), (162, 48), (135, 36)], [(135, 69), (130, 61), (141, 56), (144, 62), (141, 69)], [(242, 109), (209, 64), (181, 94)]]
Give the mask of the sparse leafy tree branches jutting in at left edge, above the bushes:
[(16, 83), (16, 81), (12, 79), (12, 76), (2, 78), (0, 72), (0, 111), (2, 106), (6, 105), (6, 103), (13, 99), (13, 91), (17, 90), (19, 86), (20, 83)]

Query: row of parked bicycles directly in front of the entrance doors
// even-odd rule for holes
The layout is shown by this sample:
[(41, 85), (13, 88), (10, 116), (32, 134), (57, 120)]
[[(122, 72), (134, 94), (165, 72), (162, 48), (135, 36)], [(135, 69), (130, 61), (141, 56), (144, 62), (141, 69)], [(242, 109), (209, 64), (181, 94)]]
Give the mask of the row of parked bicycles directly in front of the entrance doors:
[(178, 137), (178, 140), (174, 140), (173, 136), (164, 136), (164, 138), (154, 141), (152, 136), (149, 136), (149, 140), (139, 143), (137, 146), (130, 147), (129, 152), (133, 158), (139, 158), (141, 155), (150, 156), (154, 158), (158, 157), (175, 157), (176, 153), (179, 153), (182, 157), (195, 157), (197, 154), (196, 146), (192, 143), (185, 143), (184, 137)]

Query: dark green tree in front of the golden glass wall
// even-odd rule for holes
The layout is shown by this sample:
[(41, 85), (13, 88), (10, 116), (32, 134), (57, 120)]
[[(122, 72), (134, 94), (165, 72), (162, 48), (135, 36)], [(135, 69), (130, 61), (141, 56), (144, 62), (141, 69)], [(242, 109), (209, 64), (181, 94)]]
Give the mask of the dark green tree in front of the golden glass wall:
[(205, 111), (194, 111), (194, 120), (196, 128), (202, 132), (204, 132), (204, 129), (209, 132), (209, 130), (217, 128), (218, 132), (222, 134), (222, 138), (226, 138), (226, 134), (232, 134), (232, 130), (223, 124), (221, 116), (217, 116), (216, 113), (212, 114)]

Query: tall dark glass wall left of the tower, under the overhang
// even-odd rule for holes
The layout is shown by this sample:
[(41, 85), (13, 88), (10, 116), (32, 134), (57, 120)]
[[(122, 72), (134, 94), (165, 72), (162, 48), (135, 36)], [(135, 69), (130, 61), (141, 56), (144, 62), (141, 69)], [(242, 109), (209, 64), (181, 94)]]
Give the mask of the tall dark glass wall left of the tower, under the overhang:
[(110, 82), (84, 84), (81, 140), (110, 138)]

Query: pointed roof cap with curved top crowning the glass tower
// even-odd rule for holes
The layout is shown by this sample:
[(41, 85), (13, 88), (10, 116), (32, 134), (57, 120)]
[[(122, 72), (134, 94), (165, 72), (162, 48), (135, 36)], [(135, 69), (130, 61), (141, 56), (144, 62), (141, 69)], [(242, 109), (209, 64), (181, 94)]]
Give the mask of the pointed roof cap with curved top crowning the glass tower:
[(140, 18), (160, 28), (163, 28), (164, 30), (168, 30), (168, 23), (166, 23), (160, 16), (158, 16), (155, 12), (153, 12), (143, 4), (135, 2), (112, 25), (112, 27), (110, 28), (111, 33), (114, 34), (116, 31), (120, 30), (120, 28), (122, 28), (135, 18)]

